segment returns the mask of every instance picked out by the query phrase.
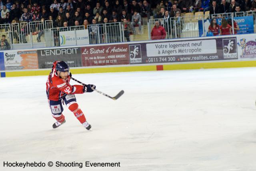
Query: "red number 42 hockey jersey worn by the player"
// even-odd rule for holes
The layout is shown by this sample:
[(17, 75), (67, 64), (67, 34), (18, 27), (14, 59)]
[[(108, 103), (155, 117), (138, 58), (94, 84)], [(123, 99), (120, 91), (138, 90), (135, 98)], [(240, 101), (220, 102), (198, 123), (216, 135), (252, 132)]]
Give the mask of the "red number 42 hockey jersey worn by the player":
[(63, 99), (67, 94), (81, 94), (84, 93), (83, 85), (70, 85), (70, 76), (66, 80), (58, 76), (56, 71), (56, 64), (59, 61), (55, 61), (52, 65), (52, 71), (50, 72), (46, 82), (46, 94), (49, 100), (58, 101)]

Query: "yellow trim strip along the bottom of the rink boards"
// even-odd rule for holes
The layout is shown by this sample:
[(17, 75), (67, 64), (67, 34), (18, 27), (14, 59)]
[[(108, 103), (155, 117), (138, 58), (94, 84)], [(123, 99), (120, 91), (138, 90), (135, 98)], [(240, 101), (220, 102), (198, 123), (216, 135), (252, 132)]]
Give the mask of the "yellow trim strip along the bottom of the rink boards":
[[(161, 64), (157, 64), (161, 65)], [(238, 67), (256, 67), (256, 61), (235, 61), (235, 62), (211, 62), (211, 63), (193, 63), (193, 64), (168, 64), (163, 65), (164, 70), (193, 70), (209, 68), (238, 68)], [(72, 68), (72, 74), (89, 74), (105, 72), (136, 72), (136, 71), (156, 71), (156, 65), (150, 66), (122, 66), (122, 67), (104, 67), (104, 68)], [(6, 77), (18, 76), (46, 76), (49, 70), (36, 71), (12, 71), (6, 72)]]

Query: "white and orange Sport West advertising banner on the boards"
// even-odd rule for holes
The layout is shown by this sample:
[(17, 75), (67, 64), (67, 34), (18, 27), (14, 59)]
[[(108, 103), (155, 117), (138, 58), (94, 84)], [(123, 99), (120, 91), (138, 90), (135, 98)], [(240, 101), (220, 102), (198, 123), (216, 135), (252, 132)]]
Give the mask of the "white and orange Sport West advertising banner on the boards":
[(36, 50), (4, 52), (4, 68), (5, 70), (38, 69)]

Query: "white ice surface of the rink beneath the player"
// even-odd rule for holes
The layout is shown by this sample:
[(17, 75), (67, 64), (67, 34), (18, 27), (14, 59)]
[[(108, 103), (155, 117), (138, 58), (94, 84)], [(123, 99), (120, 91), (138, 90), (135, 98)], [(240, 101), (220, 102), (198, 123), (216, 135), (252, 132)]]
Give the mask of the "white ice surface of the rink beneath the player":
[[(71, 70), (72, 71), (72, 70)], [(47, 76), (0, 78), (0, 171), (256, 171), (256, 68), (74, 74), (92, 131), (64, 106), (55, 119)], [(76, 82), (71, 81), (71, 84)], [(62, 161), (79, 167), (3, 167)], [(85, 167), (120, 162), (120, 167)]]

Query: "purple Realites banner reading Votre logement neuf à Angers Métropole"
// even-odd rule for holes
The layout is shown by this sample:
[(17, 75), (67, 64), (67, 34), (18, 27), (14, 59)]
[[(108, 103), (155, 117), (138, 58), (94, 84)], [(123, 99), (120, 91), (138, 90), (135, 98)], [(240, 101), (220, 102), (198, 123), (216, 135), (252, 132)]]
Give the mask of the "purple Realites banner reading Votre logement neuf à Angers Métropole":
[(130, 64), (238, 59), (236, 37), (129, 44)]

